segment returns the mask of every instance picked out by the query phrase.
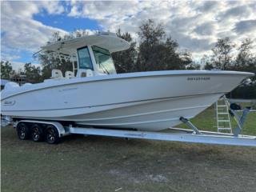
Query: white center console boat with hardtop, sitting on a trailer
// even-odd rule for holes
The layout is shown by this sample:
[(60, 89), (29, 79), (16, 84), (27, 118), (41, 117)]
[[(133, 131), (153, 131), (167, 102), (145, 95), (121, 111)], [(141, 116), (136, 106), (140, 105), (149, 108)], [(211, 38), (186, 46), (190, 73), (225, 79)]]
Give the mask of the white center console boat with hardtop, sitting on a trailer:
[[(2, 114), (14, 119), (72, 122), (90, 127), (165, 130), (194, 118), (252, 73), (166, 70), (116, 74), (111, 53), (129, 43), (102, 33), (55, 42), (42, 50), (77, 61), (77, 70), (53, 70), (37, 84), (7, 83)], [(76, 72), (76, 74), (75, 74)], [(75, 75), (74, 75), (75, 74)]]

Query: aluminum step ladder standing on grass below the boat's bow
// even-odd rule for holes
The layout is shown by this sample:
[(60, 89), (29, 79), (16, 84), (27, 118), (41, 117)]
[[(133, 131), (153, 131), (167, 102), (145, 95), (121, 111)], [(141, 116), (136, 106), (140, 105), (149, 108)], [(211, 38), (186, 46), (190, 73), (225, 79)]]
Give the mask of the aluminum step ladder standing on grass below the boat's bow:
[(218, 133), (227, 132), (232, 134), (229, 105), (230, 104), (225, 96), (218, 99), (218, 101), (215, 103), (215, 114)]

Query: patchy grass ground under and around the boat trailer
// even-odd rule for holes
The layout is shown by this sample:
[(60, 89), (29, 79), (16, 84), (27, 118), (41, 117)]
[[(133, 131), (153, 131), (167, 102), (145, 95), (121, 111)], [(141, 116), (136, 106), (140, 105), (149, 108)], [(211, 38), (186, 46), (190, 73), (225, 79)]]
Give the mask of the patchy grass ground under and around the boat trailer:
[[(256, 113), (244, 134), (256, 134)], [(194, 118), (215, 130), (214, 112)], [(181, 125), (182, 127), (184, 125)], [(256, 149), (70, 135), (58, 145), (1, 128), (1, 191), (255, 191)]]

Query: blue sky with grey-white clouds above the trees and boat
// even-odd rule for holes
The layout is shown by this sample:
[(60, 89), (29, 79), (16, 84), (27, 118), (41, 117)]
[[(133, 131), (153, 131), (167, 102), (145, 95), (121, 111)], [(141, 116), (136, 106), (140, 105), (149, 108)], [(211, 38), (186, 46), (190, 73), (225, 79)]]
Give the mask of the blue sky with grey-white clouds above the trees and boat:
[(54, 31), (121, 28), (136, 39), (138, 26), (149, 18), (195, 60), (225, 37), (237, 45), (251, 38), (256, 52), (255, 12), (255, 1), (1, 1), (1, 60), (15, 70), (26, 62), (38, 65), (32, 55)]

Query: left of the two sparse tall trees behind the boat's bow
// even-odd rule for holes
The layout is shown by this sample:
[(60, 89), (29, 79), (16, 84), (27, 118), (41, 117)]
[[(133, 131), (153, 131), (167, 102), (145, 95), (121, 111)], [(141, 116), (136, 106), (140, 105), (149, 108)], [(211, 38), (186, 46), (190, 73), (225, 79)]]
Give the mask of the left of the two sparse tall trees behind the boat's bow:
[(230, 38), (219, 38), (218, 42), (212, 49), (212, 64), (215, 69), (218, 70), (229, 70), (232, 61), (232, 51), (234, 49), (234, 43), (231, 42)]

